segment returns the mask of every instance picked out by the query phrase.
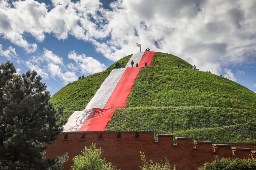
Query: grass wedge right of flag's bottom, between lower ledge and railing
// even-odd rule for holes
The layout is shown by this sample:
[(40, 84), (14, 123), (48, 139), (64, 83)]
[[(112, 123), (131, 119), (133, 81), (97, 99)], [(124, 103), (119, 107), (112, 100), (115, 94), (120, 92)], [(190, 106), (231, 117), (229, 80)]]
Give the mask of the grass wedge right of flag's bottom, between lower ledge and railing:
[(106, 131), (253, 112), (255, 110), (217, 107), (135, 107), (116, 109)]

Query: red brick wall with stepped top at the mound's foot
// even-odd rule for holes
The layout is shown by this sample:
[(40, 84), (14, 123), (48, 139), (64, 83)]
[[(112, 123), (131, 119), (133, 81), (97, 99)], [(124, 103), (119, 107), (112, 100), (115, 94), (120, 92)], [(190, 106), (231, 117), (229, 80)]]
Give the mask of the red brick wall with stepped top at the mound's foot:
[[(243, 158), (251, 152), (246, 149), (236, 150), (231, 145), (215, 145), (210, 141), (194, 141), (193, 144), (192, 138), (175, 140), (176, 144), (173, 145), (172, 135), (158, 135), (156, 142), (154, 132), (69, 132), (59, 135), (54, 144), (44, 146), (47, 147), (47, 158), (68, 152), (66, 170), (73, 164), (72, 158), (81, 154), (85, 146), (89, 148), (92, 143), (96, 143), (97, 148), (102, 148), (103, 158), (122, 170), (140, 169), (140, 151), (145, 153), (147, 160), (154, 163), (160, 160), (165, 162), (166, 157), (178, 170), (196, 170), (203, 163), (211, 162), (215, 155), (232, 157), (235, 153), (236, 157)], [(248, 144), (246, 148), (255, 146), (255, 143)]]

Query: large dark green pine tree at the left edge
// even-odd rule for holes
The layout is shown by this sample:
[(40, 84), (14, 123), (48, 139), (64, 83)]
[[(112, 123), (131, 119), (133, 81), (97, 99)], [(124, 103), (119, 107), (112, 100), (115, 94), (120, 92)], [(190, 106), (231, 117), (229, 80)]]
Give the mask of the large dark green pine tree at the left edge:
[(66, 122), (35, 70), (15, 73), (12, 63), (0, 65), (0, 169), (60, 169), (67, 154), (46, 159), (42, 143), (54, 142)]

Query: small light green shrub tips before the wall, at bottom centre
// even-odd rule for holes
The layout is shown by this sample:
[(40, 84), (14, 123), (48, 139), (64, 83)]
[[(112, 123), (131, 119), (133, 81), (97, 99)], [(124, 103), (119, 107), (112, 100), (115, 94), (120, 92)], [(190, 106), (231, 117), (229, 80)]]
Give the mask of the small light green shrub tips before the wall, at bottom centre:
[[(153, 163), (150, 160), (150, 164), (148, 163), (148, 161), (146, 160), (146, 156), (144, 154), (144, 152), (140, 152), (140, 158), (142, 161), (142, 166), (140, 166), (140, 168), (142, 170), (172, 170), (172, 167), (170, 166), (169, 160), (167, 160), (167, 158), (165, 158), (165, 163), (163, 164), (162, 161), (160, 161), (160, 163)], [(173, 170), (176, 170), (176, 167), (173, 167)]]

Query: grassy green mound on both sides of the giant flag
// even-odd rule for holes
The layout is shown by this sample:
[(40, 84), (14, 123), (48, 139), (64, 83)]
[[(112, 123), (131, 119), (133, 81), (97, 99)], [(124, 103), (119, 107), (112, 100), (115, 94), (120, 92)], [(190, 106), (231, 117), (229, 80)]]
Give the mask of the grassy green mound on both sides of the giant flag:
[[(131, 56), (123, 57), (118, 62), (124, 67)], [(161, 63), (161, 67), (158, 67), (158, 63)], [(64, 107), (62, 119), (68, 119), (74, 111), (84, 110), (114, 68), (112, 64), (105, 71), (74, 81), (54, 94), (50, 102), (55, 108)], [(255, 112), (254, 92), (226, 78), (191, 68), (191, 64), (177, 56), (156, 53), (151, 66), (141, 69), (125, 108), (116, 109), (106, 130)], [(238, 128), (233, 127), (241, 129), (238, 132)], [(228, 128), (231, 130), (223, 127), (190, 129), (173, 134), (214, 142), (245, 142), (255, 139), (250, 135), (255, 130), (248, 129), (244, 124)], [(232, 130), (246, 135), (233, 136)], [(227, 137), (216, 137), (222, 134)]]

